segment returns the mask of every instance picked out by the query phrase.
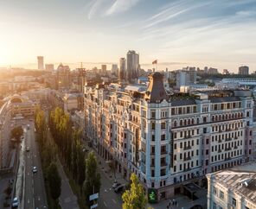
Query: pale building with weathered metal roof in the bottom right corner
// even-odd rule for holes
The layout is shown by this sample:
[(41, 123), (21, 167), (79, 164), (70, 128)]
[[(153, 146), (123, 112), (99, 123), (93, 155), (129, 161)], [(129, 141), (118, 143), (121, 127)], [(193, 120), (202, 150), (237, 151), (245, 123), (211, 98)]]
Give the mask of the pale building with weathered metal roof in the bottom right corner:
[(208, 209), (255, 209), (256, 162), (207, 174)]

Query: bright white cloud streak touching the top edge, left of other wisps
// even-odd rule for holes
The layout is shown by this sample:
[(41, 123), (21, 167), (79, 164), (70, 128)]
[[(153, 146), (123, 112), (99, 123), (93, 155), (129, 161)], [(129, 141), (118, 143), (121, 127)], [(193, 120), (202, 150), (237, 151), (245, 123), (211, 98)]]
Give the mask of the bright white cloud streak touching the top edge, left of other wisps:
[(106, 10), (106, 16), (112, 16), (131, 9), (140, 0), (116, 0), (112, 6)]

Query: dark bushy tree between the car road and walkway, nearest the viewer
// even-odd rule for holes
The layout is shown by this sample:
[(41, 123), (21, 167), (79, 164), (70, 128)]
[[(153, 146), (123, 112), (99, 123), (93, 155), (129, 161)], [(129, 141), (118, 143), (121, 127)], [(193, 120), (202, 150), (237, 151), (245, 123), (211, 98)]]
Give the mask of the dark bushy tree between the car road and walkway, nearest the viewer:
[(61, 177), (54, 162), (52, 162), (48, 167), (47, 177), (51, 197), (56, 200), (61, 195)]

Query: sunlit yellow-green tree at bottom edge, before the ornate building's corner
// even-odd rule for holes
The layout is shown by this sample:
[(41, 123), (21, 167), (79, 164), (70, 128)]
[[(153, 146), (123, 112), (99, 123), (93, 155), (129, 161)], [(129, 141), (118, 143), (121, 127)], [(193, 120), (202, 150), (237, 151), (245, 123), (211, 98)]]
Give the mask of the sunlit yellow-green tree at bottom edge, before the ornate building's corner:
[(139, 183), (136, 174), (131, 174), (131, 189), (126, 190), (122, 195), (123, 209), (145, 209), (147, 198), (144, 187)]

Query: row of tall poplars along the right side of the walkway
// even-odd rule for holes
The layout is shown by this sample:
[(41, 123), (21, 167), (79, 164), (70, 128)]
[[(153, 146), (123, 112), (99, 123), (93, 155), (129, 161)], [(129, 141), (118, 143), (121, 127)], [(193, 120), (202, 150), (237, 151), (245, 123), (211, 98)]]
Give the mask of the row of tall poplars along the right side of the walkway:
[(89, 206), (89, 195), (99, 193), (100, 188), (95, 155), (90, 152), (86, 158), (86, 149), (81, 142), (81, 131), (74, 128), (70, 117), (60, 107), (51, 111), (49, 127), (65, 166), (80, 186), (80, 193), (84, 192)]

